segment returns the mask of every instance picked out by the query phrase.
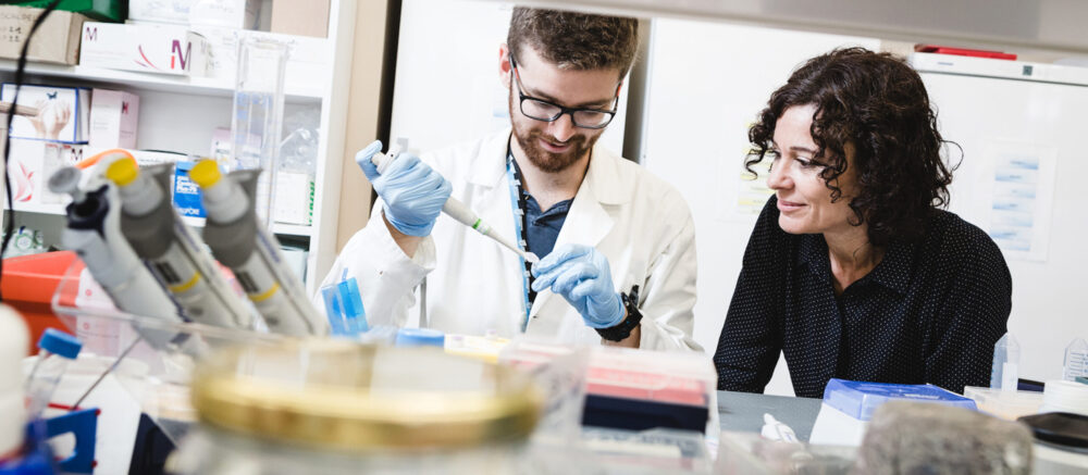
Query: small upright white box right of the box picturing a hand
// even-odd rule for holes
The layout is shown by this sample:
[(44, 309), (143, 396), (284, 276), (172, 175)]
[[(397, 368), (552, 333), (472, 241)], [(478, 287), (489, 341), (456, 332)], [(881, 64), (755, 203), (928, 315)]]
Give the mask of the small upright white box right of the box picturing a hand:
[(90, 146), (136, 148), (139, 96), (132, 92), (95, 89), (90, 100)]

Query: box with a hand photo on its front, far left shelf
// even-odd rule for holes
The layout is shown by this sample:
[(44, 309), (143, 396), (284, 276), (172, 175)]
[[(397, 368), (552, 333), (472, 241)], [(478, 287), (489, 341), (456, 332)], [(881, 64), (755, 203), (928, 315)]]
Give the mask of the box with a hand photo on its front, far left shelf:
[[(0, 101), (11, 102), (15, 85), (4, 83)], [(12, 138), (54, 140), (64, 143), (86, 143), (90, 116), (90, 89), (23, 85), (18, 105), (37, 109), (35, 115), (15, 115), (11, 122)]]

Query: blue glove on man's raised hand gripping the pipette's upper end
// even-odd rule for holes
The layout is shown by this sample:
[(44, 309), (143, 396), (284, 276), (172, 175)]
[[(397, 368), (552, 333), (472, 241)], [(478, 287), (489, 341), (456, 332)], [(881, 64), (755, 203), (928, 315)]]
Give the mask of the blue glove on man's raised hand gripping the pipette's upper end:
[(385, 202), (385, 218), (408, 236), (431, 234), (453, 187), (438, 172), (408, 153), (397, 155), (379, 175), (370, 159), (381, 149), (382, 142), (374, 141), (356, 153), (355, 161)]

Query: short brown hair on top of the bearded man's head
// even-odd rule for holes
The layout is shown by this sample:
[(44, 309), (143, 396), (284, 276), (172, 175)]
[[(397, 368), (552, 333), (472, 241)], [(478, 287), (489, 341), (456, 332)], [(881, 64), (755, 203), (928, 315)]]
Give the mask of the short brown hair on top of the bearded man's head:
[(614, 68), (623, 77), (639, 50), (639, 21), (517, 7), (506, 43), (515, 59), (528, 46), (562, 70)]

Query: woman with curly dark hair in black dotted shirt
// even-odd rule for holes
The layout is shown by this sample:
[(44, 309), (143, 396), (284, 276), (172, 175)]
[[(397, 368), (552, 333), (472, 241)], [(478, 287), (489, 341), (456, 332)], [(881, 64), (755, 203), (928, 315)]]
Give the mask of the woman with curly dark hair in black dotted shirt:
[(767, 201), (714, 363), (762, 392), (781, 351), (796, 396), (832, 377), (988, 386), (1012, 277), (997, 245), (949, 213), (945, 141), (918, 74), (862, 48), (808, 60), (749, 130), (772, 160)]

